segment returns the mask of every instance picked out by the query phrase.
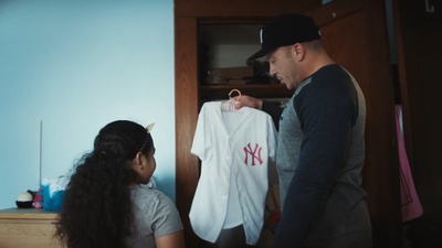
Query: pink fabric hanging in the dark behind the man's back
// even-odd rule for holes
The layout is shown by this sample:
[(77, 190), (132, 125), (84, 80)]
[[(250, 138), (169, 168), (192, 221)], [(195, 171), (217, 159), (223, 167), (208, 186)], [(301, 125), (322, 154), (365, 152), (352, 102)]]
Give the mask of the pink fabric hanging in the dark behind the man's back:
[(400, 190), (402, 205), (402, 223), (418, 218), (423, 214), (421, 202), (414, 188), (413, 177), (411, 175), (410, 164), (407, 158), (406, 145), (401, 128), (402, 106), (396, 106), (396, 129), (398, 137), (398, 150), (400, 162)]

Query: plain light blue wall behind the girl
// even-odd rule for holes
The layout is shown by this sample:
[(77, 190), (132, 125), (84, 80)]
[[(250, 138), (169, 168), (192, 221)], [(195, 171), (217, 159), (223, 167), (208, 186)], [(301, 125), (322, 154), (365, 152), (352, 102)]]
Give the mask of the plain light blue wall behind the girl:
[(175, 200), (172, 0), (0, 1), (0, 208), (64, 175), (106, 123), (155, 122)]

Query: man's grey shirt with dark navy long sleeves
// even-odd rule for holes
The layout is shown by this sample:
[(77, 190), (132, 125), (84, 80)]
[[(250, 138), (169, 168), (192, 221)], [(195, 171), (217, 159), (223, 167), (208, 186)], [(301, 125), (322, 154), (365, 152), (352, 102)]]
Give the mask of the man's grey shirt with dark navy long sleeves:
[(366, 105), (357, 82), (327, 65), (303, 82), (281, 114), (276, 165), (282, 219), (273, 247), (371, 247), (366, 193)]

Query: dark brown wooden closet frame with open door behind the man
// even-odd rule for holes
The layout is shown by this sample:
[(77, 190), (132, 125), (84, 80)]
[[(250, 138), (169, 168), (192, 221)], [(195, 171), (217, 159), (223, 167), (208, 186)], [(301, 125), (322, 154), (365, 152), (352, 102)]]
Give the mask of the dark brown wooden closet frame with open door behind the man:
[[(176, 203), (185, 225), (187, 247), (201, 247), (188, 217), (200, 175), (199, 160), (190, 149), (201, 94), (208, 94), (198, 79), (199, 25), (263, 24), (291, 12), (305, 13), (315, 20), (326, 51), (355, 76), (365, 94), (367, 137), (362, 187), (368, 194), (373, 247), (400, 247), (399, 160), (385, 1), (335, 0), (323, 6), (317, 0), (175, 0)], [(274, 87), (243, 89), (244, 94), (255, 97), (266, 97), (275, 90), (285, 94)], [(217, 93), (220, 91), (211, 91)]]

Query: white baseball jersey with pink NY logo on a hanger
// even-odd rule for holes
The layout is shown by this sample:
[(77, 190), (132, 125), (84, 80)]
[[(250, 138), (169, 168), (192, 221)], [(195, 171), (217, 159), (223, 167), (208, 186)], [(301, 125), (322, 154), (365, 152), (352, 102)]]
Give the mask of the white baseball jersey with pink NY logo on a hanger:
[(190, 223), (210, 242), (223, 227), (243, 224), (246, 244), (254, 245), (264, 223), (267, 163), (275, 160), (276, 130), (264, 111), (221, 111), (221, 103), (206, 103), (198, 117), (191, 153), (201, 160), (201, 175)]

